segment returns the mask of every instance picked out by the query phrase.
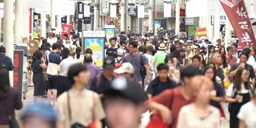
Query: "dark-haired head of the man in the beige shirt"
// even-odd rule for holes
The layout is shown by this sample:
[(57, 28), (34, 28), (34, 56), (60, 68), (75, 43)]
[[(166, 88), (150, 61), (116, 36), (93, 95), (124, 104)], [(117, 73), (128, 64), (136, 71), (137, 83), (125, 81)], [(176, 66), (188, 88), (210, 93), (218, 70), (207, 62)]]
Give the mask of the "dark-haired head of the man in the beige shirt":
[(90, 73), (86, 66), (81, 63), (70, 66), (67, 73), (67, 78), (70, 80), (72, 85), (87, 85), (89, 84)]

